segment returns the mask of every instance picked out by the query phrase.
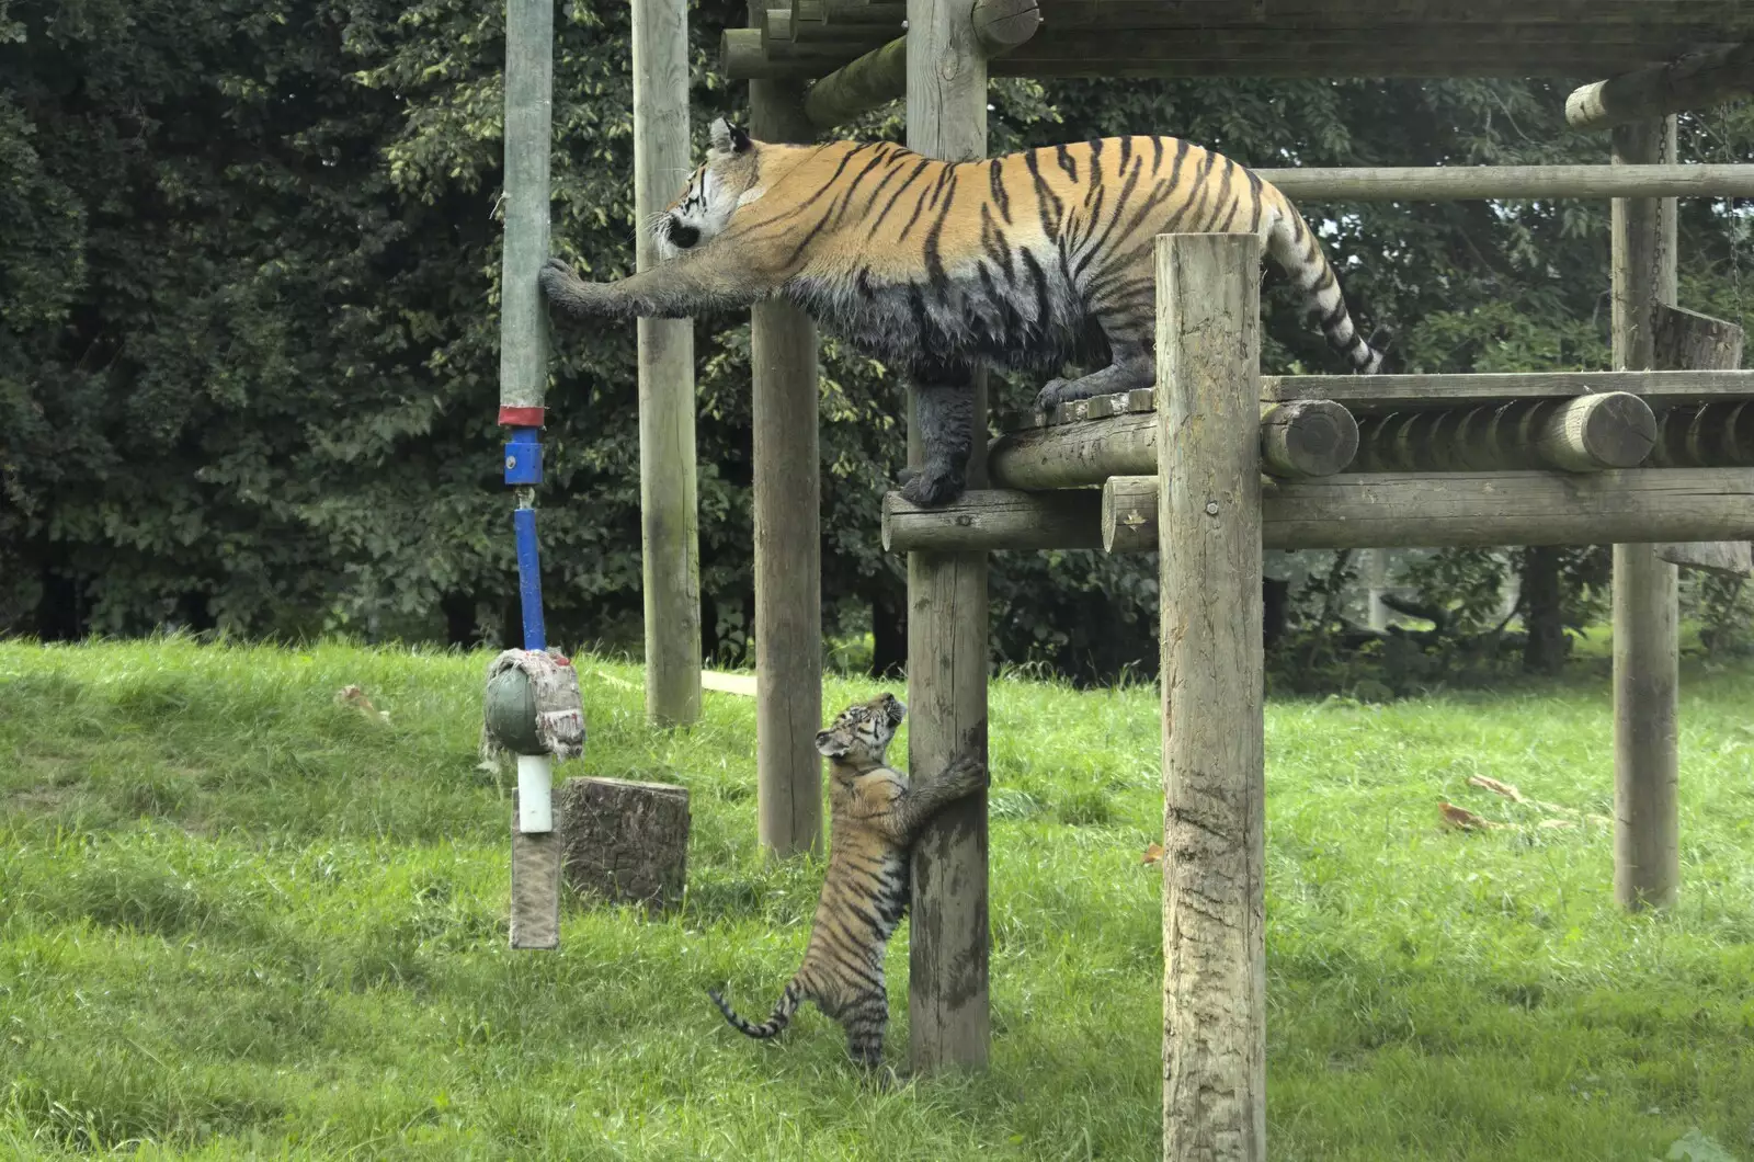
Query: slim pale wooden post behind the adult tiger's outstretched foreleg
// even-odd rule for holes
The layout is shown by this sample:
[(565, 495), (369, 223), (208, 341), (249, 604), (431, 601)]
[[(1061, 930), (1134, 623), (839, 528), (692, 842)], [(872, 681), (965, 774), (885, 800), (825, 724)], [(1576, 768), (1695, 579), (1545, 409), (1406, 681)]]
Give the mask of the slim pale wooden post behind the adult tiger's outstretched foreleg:
[[(647, 221), (693, 172), (688, 142), (688, 4), (633, 0), (633, 214)], [(640, 230), (638, 269), (658, 262)], [(645, 718), (700, 718), (700, 534), (695, 497), (695, 325), (640, 319), (640, 572)]]

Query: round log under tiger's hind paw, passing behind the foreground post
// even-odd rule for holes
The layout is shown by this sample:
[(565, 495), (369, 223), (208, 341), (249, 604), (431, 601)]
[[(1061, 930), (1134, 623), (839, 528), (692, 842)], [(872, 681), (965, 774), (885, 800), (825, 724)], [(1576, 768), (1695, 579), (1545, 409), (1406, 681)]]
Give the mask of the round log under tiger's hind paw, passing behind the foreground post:
[[(988, 448), (988, 476), (1000, 488), (1080, 488), (1110, 476), (1158, 470), (1158, 420), (1128, 412), (1009, 432)], [(1358, 421), (1331, 400), (1261, 405), (1261, 467), (1270, 476), (1331, 476), (1358, 451)]]

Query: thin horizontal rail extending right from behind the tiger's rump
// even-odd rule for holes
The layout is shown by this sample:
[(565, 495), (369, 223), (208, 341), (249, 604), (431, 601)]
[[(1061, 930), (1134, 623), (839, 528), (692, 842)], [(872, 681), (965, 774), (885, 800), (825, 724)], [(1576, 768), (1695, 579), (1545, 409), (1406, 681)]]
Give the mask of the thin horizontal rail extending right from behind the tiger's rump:
[(1754, 165), (1426, 165), (1258, 169), (1294, 202), (1750, 197)]

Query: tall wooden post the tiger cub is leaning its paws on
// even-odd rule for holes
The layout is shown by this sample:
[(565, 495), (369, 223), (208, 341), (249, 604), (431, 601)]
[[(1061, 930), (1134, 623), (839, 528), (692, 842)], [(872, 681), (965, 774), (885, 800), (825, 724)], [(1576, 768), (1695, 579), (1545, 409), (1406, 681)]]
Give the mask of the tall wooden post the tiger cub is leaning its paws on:
[[(907, 4), (907, 144), (926, 156), (986, 154), (988, 70), (970, 14), (968, 4), (954, 0)], [(980, 488), (988, 407), (979, 374), (973, 390), (968, 486)], [(912, 432), (909, 458), (919, 463)], [(909, 767), (933, 774), (968, 746), (986, 758), (986, 553), (909, 553), (907, 662)], [(909, 1050), (916, 1072), (979, 1069), (988, 1060), (986, 809), (986, 795), (970, 795), (940, 813), (914, 844)]]

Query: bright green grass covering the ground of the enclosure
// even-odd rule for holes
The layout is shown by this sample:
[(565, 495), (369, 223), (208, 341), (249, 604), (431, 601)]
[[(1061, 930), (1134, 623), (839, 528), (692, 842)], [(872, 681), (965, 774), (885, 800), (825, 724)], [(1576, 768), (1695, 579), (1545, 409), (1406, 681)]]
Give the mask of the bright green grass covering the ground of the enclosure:
[[(635, 667), (581, 662), (574, 769), (689, 786), (688, 902), (568, 906), (561, 951), (505, 948), (484, 663), (0, 644), (0, 1155), (1158, 1157), (1151, 688), (995, 683), (993, 1067), (877, 1094), (814, 1009), (756, 1044), (703, 995), (772, 1002), (819, 876), (756, 851), (744, 699), (656, 734)], [(335, 706), (347, 683), (391, 721)], [(830, 709), (872, 692), (831, 681)], [(1754, 1158), (1750, 706), (1754, 671), (1689, 671), (1684, 899), (1631, 918), (1587, 820), (1600, 679), (1272, 704), (1272, 1157), (1642, 1162), (1696, 1129)], [(1444, 830), (1438, 799), (1510, 827)], [(900, 1064), (905, 927), (889, 967)]]

